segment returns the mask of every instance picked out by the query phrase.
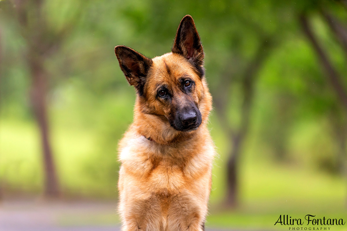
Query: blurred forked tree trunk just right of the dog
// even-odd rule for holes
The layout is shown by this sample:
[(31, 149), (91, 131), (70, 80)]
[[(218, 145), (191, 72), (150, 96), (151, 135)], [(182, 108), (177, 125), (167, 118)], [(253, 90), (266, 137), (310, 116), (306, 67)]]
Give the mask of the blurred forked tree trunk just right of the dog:
[[(242, 145), (249, 128), (249, 121), (251, 115), (251, 108), (253, 105), (254, 85), (258, 71), (261, 69), (262, 64), (265, 61), (266, 56), (269, 54), (269, 48), (272, 46), (272, 42), (269, 38), (262, 40), (258, 50), (256, 51), (253, 59), (247, 65), (242, 78), (243, 87), (243, 103), (241, 108), (241, 121), (240, 126), (237, 129), (231, 128), (228, 123), (229, 113), (227, 111), (228, 95), (224, 94), (226, 91), (220, 90), (219, 94), (215, 94), (215, 109), (219, 116), (220, 122), (223, 127), (226, 128), (226, 133), (231, 140), (231, 152), (227, 161), (227, 195), (226, 206), (236, 207), (238, 204), (238, 160), (242, 152)], [(224, 76), (219, 89), (225, 89), (229, 87), (232, 77)]]

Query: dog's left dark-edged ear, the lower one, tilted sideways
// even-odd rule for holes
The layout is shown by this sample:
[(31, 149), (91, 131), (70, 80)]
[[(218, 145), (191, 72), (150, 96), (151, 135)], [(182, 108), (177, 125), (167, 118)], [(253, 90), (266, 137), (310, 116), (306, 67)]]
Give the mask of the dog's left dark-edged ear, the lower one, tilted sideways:
[(146, 73), (152, 65), (152, 60), (127, 46), (116, 46), (115, 53), (129, 84), (142, 95)]

